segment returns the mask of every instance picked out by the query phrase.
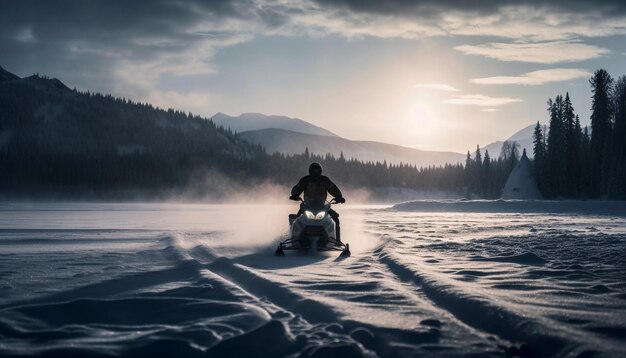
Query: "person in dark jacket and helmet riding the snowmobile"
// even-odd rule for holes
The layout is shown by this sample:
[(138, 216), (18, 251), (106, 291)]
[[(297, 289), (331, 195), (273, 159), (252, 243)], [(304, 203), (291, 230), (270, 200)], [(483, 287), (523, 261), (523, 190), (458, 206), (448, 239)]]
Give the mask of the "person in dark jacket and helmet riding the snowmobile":
[[(300, 194), (304, 192), (304, 201), (323, 203), (326, 201), (326, 193), (332, 195), (337, 203), (345, 203), (346, 199), (341, 194), (341, 190), (333, 183), (328, 177), (322, 175), (322, 166), (319, 163), (311, 163), (309, 165), (309, 175), (304, 176), (298, 181), (293, 189), (291, 189), (291, 196), (289, 199), (295, 201), (301, 201)], [(302, 205), (296, 216), (300, 216), (304, 213)], [(335, 221), (335, 231), (337, 233), (337, 241), (341, 242), (341, 236), (339, 231), (339, 214), (330, 209), (328, 215)]]

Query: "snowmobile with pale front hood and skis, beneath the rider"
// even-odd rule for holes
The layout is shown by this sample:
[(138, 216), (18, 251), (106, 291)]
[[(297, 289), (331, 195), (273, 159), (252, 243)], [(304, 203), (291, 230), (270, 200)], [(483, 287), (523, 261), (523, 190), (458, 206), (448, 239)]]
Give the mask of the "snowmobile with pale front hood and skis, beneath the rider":
[(313, 203), (304, 201), (301, 204), (303, 214), (289, 215), (289, 238), (278, 244), (277, 256), (284, 256), (285, 250), (309, 251), (341, 251), (341, 257), (350, 256), (350, 245), (337, 240), (335, 221), (328, 211), (331, 204), (337, 202)]

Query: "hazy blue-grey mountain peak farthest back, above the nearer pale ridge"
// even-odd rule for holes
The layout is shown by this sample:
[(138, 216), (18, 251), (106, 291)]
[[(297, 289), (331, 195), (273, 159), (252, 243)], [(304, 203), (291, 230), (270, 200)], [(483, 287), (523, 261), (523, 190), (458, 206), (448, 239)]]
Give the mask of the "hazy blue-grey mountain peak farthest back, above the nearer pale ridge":
[(237, 117), (224, 113), (216, 113), (211, 117), (213, 122), (233, 132), (254, 131), (259, 129), (285, 129), (293, 132), (335, 137), (336, 135), (324, 128), (315, 126), (298, 118), (286, 116), (268, 116), (262, 113), (242, 113)]

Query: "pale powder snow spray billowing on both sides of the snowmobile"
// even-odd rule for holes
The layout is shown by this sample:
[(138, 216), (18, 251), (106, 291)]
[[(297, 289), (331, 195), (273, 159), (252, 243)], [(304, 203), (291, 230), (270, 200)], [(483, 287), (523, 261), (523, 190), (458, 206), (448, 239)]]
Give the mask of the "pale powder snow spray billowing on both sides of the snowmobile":
[[(299, 175), (294, 175), (293, 184), (298, 179)], [(212, 221), (220, 223), (217, 230), (223, 232), (227, 237), (225, 242), (235, 248), (232, 256), (240, 256), (242, 248), (274, 250), (274, 244), (288, 235), (288, 215), (295, 214), (299, 208), (299, 203), (288, 199), (293, 184), (281, 185), (267, 179), (238, 180), (220, 171), (210, 170), (193, 175), (185, 189), (170, 195), (168, 201), (236, 207), (238, 214), (235, 217), (232, 216), (233, 210), (229, 210), (231, 214), (226, 215), (219, 208), (203, 215), (211, 215)], [(337, 184), (341, 187), (341, 183)], [(365, 242), (363, 214), (361, 210), (352, 209), (368, 203), (371, 192), (367, 189), (341, 189), (348, 204), (334, 205), (333, 208), (341, 215), (342, 232), (346, 236), (358, 238), (359, 242)], [(345, 217), (343, 213), (346, 213)], [(363, 245), (359, 244), (355, 248), (359, 250), (360, 247)]]

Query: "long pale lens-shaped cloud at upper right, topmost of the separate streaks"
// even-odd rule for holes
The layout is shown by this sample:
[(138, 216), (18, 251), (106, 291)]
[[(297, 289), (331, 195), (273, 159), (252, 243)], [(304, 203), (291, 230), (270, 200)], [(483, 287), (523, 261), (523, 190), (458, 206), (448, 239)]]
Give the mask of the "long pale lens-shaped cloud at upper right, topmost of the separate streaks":
[(576, 41), (539, 43), (500, 43), (462, 45), (456, 50), (466, 55), (479, 55), (499, 61), (518, 61), (542, 64), (584, 61), (610, 53), (609, 50)]

